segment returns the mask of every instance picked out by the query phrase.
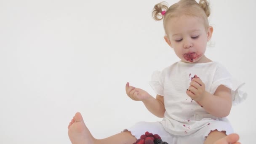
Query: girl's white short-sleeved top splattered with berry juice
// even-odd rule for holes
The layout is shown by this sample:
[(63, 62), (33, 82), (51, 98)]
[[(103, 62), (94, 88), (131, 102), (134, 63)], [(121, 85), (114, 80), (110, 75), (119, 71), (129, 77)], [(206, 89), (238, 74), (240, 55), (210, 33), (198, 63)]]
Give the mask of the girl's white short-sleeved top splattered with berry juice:
[(197, 75), (205, 84), (205, 91), (214, 94), (219, 85), (231, 89), (233, 104), (242, 102), (247, 93), (240, 90), (244, 83), (237, 82), (218, 62), (185, 63), (178, 61), (162, 72), (155, 71), (149, 82), (155, 93), (164, 96), (165, 114), (161, 121), (166, 131), (174, 135), (189, 135), (200, 128), (223, 129), (230, 133), (226, 117), (215, 117), (206, 112), (186, 93), (191, 78)]

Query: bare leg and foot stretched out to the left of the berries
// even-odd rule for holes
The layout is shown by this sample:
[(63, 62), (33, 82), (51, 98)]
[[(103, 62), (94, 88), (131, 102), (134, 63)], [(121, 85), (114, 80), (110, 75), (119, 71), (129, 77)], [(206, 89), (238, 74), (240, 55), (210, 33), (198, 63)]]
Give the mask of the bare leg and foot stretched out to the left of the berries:
[(85, 126), (82, 115), (77, 112), (68, 126), (72, 144), (133, 144), (136, 138), (130, 132), (118, 133), (105, 139), (95, 139)]

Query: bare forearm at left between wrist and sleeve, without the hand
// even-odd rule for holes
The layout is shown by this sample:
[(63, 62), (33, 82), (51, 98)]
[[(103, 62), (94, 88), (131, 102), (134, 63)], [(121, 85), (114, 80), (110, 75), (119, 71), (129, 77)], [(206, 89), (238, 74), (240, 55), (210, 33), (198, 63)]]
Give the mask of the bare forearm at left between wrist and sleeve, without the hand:
[(149, 99), (142, 102), (153, 115), (161, 118), (164, 117), (165, 104), (163, 102), (163, 96), (157, 95), (156, 98), (150, 96)]

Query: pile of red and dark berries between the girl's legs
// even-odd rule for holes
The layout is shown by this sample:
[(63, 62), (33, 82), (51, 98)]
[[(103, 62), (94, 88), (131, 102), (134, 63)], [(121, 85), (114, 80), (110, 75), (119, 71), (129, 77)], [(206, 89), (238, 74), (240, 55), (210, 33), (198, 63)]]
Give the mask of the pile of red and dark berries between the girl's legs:
[(162, 141), (161, 137), (158, 134), (152, 134), (147, 131), (145, 134), (141, 135), (141, 138), (138, 139), (133, 144), (168, 144), (168, 143), (165, 141)]

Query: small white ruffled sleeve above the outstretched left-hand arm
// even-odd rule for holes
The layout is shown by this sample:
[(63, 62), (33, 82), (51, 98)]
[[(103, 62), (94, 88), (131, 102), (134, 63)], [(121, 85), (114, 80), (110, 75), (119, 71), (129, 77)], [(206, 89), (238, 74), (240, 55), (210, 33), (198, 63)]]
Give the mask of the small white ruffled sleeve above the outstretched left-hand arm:
[(153, 88), (156, 94), (163, 96), (163, 81), (161, 79), (160, 71), (153, 72), (149, 85)]

